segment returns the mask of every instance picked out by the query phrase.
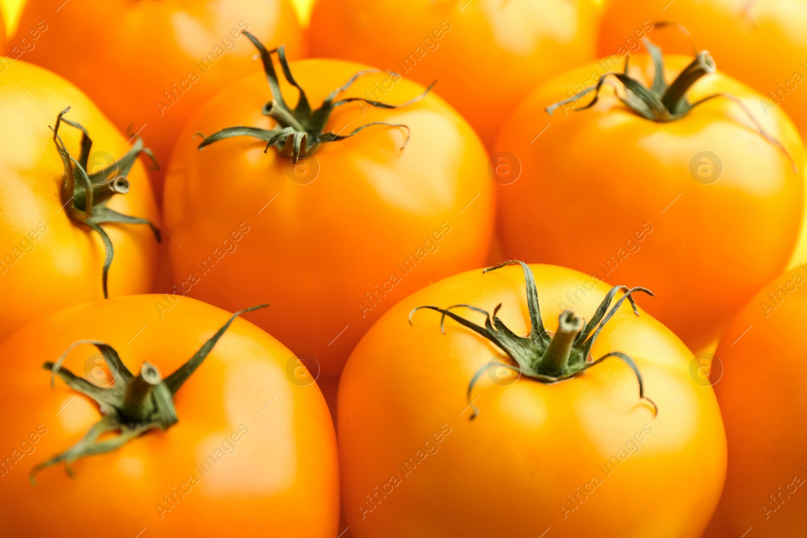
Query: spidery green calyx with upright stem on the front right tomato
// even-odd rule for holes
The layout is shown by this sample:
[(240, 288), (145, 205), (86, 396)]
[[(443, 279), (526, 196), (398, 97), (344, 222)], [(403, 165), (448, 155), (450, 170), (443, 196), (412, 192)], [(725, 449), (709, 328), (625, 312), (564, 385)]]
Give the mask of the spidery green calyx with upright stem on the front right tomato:
[[(507, 265), (520, 264), (524, 269), (524, 277), (527, 286), (527, 307), (529, 309), (529, 320), (531, 330), (529, 336), (518, 336), (512, 332), (504, 322), (499, 319), (496, 313), (501, 308), (501, 303), (493, 310), (493, 315), (478, 307), (472, 307), (466, 304), (458, 304), (445, 309), (439, 307), (417, 307), (409, 313), (409, 323), (412, 323), (412, 315), (422, 309), (437, 311), (441, 313), (440, 329), (445, 333), (444, 323), (445, 317), (448, 316), (454, 319), (457, 323), (470, 328), (470, 330), (478, 332), (480, 335), (491, 340), (496, 346), (501, 348), (508, 354), (509, 357), (516, 363), (515, 365), (504, 365), (506, 368), (512, 369), (521, 375), (529, 377), (542, 383), (559, 382), (570, 377), (575, 377), (579, 373), (591, 368), (594, 365), (600, 364), (608, 357), (618, 357), (625, 361), (639, 382), (639, 398), (645, 399), (653, 406), (654, 413), (658, 411), (655, 403), (645, 396), (644, 382), (642, 381), (642, 373), (633, 359), (623, 352), (609, 352), (600, 357), (596, 361), (591, 360), (591, 350), (597, 336), (600, 335), (605, 323), (613, 318), (617, 313), (619, 307), (625, 300), (630, 302), (633, 307), (633, 312), (639, 315), (636, 308), (636, 303), (633, 301), (632, 294), (641, 291), (646, 294), (653, 295), (650, 290), (641, 287), (628, 288), (627, 286), (614, 286), (605, 295), (600, 307), (592, 316), (592, 319), (585, 323), (584, 319), (580, 319), (573, 311), (563, 311), (558, 318), (558, 331), (554, 335), (550, 335), (544, 328), (543, 321), (541, 320), (541, 308), (538, 305), (538, 294), (535, 286), (535, 277), (533, 277), (532, 269), (523, 261), (506, 261), (501, 265), (496, 265), (485, 269), (483, 273), (488, 271), (495, 271)], [(619, 292), (623, 292), (621, 298), (617, 300), (613, 307), (611, 306), (613, 298)], [(485, 326), (482, 327), (468, 319), (463, 318), (452, 311), (454, 308), (469, 308), (472, 311), (479, 312), (485, 315)], [(471, 402), (470, 394), (474, 389), (476, 382), (483, 373), (491, 367), (500, 368), (503, 365), (498, 362), (488, 363), (483, 365), (474, 377), (471, 378), (468, 385), (468, 402)], [(475, 419), (479, 414), (479, 409), (474, 406), (474, 414), (471, 419)]]

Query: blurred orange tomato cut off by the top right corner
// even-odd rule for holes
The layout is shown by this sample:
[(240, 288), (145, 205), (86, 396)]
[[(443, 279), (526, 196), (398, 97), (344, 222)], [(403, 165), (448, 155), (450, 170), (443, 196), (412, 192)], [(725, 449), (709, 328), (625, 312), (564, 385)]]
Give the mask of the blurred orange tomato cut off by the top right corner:
[[(637, 48), (633, 32), (663, 19), (682, 24), (700, 48), (712, 52), (724, 73), (750, 85), (761, 97), (749, 102), (756, 115), (782, 106), (807, 135), (807, 4), (758, 0), (608, 0), (600, 26), (598, 52)], [(650, 38), (689, 52), (690, 40), (675, 31), (650, 32)], [(672, 49), (671, 49), (672, 50)]]

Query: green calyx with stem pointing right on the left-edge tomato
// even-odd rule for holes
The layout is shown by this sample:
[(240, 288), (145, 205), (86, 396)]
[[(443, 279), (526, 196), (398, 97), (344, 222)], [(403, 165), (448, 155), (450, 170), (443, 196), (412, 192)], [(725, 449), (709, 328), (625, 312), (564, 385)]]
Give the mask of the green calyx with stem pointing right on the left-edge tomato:
[[(103, 223), (121, 224), (148, 224), (154, 232), (157, 243), (160, 242), (160, 231), (157, 226), (147, 219), (122, 215), (117, 211), (107, 207), (107, 202), (115, 194), (127, 194), (129, 191), (128, 173), (135, 164), (140, 153), (148, 156), (157, 167), (157, 161), (150, 149), (144, 148), (143, 140), (137, 139), (132, 148), (122, 157), (116, 159), (98, 172), (88, 173), (87, 166), (90, 159), (90, 151), (93, 141), (86, 128), (80, 123), (73, 122), (63, 116), (70, 111), (68, 106), (65, 110), (56, 115), (56, 123), (51, 127), (53, 131), (53, 143), (56, 144), (56, 151), (59, 152), (62, 166), (65, 169), (64, 181), (61, 186), (61, 202), (67, 215), (77, 223), (86, 224), (91, 230), (98, 233), (104, 244), (105, 256), (101, 273), (101, 287), (104, 298), (109, 297), (107, 280), (109, 268), (114, 257), (112, 241), (107, 232), (103, 230)], [(82, 131), (81, 153), (78, 159), (70, 155), (61, 136), (59, 128), (61, 123), (67, 123), (71, 127)]]

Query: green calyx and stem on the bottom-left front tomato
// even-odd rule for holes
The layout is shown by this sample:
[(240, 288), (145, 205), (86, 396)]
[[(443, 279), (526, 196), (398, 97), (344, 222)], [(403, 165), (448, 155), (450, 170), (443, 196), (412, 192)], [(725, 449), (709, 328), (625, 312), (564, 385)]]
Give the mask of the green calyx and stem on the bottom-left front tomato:
[[(123, 365), (115, 348), (97, 340), (78, 340), (71, 344), (56, 362), (45, 362), (44, 369), (51, 372), (51, 385), (53, 385), (53, 378), (59, 377), (69, 388), (92, 398), (98, 404), (102, 418), (90, 427), (82, 439), (72, 447), (31, 469), (29, 474), (31, 484), (36, 485), (36, 473), (51, 465), (64, 461), (65, 470), (70, 476), (73, 476), (71, 465), (74, 461), (93, 454), (111, 452), (148, 430), (158, 428), (165, 432), (166, 429), (177, 423), (174, 394), (179, 387), (199, 368), (236, 317), (266, 306), (268, 305), (263, 304), (237, 311), (199, 348), (199, 351), (194, 353), (189, 361), (165, 380), (157, 366), (149, 362), (144, 362), (140, 373), (135, 376), (126, 365)], [(62, 368), (65, 357), (80, 344), (94, 345), (101, 352), (113, 378), (110, 387), (94, 385), (68, 369)]]

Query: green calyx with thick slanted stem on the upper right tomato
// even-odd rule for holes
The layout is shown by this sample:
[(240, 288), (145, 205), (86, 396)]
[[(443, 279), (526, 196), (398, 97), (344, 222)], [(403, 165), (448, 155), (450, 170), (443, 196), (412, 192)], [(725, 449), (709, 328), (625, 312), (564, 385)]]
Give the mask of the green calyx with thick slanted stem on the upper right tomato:
[(692, 60), (692, 62), (687, 65), (683, 71), (681, 71), (681, 73), (678, 74), (678, 77), (675, 77), (675, 80), (672, 81), (671, 84), (668, 85), (664, 78), (664, 57), (661, 49), (651, 43), (647, 38), (642, 41), (648, 52), (650, 52), (650, 56), (653, 58), (654, 77), (650, 88), (643, 85), (635, 78), (629, 76), (628, 66), (630, 54), (628, 54), (628, 56), (625, 56), (625, 71), (623, 73), (605, 73), (600, 77), (599, 81), (597, 81), (596, 85), (586, 88), (585, 90), (580, 91), (578, 94), (572, 95), (570, 98), (563, 99), (562, 101), (558, 101), (550, 106), (547, 106), (546, 111), (549, 113), (549, 115), (552, 115), (552, 113), (559, 107), (565, 106), (572, 102), (579, 102), (579, 100), (585, 97), (587, 94), (594, 92), (594, 98), (591, 100), (591, 102), (588, 102), (587, 105), (580, 106), (579, 108), (575, 106), (574, 110), (585, 111), (591, 108), (599, 100), (600, 90), (608, 77), (615, 77), (625, 87), (624, 96), (617, 93), (617, 98), (623, 104), (625, 104), (625, 106), (628, 106), (631, 111), (642, 116), (642, 118), (662, 123), (674, 122), (677, 119), (681, 119), (685, 115), (688, 115), (688, 113), (696, 106), (699, 106), (714, 98), (729, 98), (742, 108), (742, 111), (748, 115), (748, 117), (759, 130), (759, 133), (764, 136), (768, 142), (774, 144), (781, 150), (781, 152), (784, 153), (784, 155), (788, 156), (793, 169), (798, 171), (796, 161), (793, 161), (792, 156), (790, 156), (790, 153), (788, 153), (788, 150), (784, 147), (784, 144), (782, 144), (774, 136), (771, 136), (765, 127), (763, 127), (762, 123), (759, 123), (759, 119), (756, 119), (756, 116), (745, 105), (745, 103), (734, 97), (734, 95), (725, 93), (713, 94), (705, 98), (701, 98), (696, 102), (689, 102), (687, 92), (692, 85), (694, 85), (696, 81), (700, 80), (701, 77), (704, 77), (709, 73), (714, 73), (717, 69), (714, 59), (712, 55), (709, 54), (709, 51), (698, 52), (695, 59)]

